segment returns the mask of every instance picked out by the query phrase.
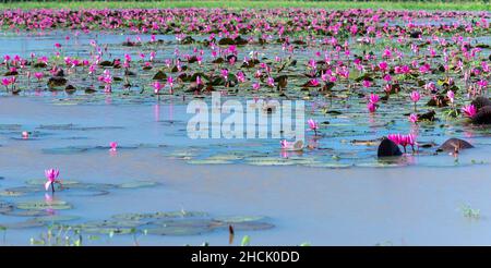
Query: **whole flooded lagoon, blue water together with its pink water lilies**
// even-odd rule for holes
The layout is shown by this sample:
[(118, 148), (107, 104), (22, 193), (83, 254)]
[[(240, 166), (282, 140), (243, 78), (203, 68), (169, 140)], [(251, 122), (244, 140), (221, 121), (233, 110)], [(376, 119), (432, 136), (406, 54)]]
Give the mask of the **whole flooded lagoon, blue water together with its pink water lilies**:
[[(1, 33), (0, 245), (60, 230), (83, 245), (491, 243), (490, 113), (476, 102), (489, 14), (350, 11), (307, 34), (306, 17), (328, 14), (302, 12), (262, 35), (187, 20)], [(367, 25), (346, 25), (355, 14)], [(191, 138), (189, 106), (213, 107), (212, 93), (267, 117), (302, 101), (301, 148), (271, 120), (265, 138)], [(440, 150), (448, 138), (474, 148)], [(384, 141), (399, 155), (381, 157)]]

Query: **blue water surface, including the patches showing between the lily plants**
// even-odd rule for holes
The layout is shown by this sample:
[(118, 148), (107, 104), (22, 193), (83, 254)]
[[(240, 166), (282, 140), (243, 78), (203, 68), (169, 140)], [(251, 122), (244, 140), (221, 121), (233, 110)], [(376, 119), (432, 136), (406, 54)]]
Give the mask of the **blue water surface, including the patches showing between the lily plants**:
[[(157, 39), (164, 40), (159, 45), (146, 44), (148, 46), (137, 48), (121, 46), (127, 37), (135, 38), (129, 34), (94, 32), (76, 38), (71, 35), (70, 41), (64, 40), (65, 35), (68, 32), (63, 31), (39, 36), (4, 33), (0, 38), (0, 54), (29, 58), (34, 51), (37, 56), (52, 56), (53, 44), (60, 42), (62, 56), (88, 58), (93, 52), (89, 40), (97, 39), (99, 45), (108, 45), (107, 59), (121, 58), (127, 52), (136, 58), (141, 51), (156, 50), (156, 65), (161, 66), (164, 59), (173, 57), (175, 48), (191, 53), (196, 47), (178, 45), (170, 35), (157, 35)], [(140, 36), (144, 42), (149, 39), (148, 35)], [(394, 42), (376, 40), (374, 52), (380, 53), (384, 46)], [(477, 37), (476, 42), (488, 44), (489, 36)], [(300, 46), (295, 49), (295, 59), (307, 62), (319, 47)], [(354, 53), (363, 49), (352, 47)], [(209, 63), (209, 48), (203, 49), (204, 61)], [(264, 52), (270, 59), (287, 57), (278, 44), (248, 45), (238, 49), (240, 57), (250, 50)], [(482, 54), (486, 53), (489, 49), (483, 50)], [(279, 149), (279, 138), (189, 138), (187, 124), (193, 114), (185, 113), (187, 105), (197, 97), (183, 96), (184, 86), (176, 96), (157, 98), (139, 93), (149, 83), (155, 70), (141, 71), (137, 64), (143, 62), (135, 61), (137, 75), (132, 78), (135, 85), (130, 90), (115, 83), (112, 94), (85, 94), (80, 89), (89, 84), (86, 72), (71, 70), (67, 71), (70, 82), (79, 87), (73, 95), (62, 89), (48, 92), (45, 82), (26, 84), (20, 78), (24, 87), (20, 96), (0, 97), (0, 200), (15, 205), (22, 202), (49, 204), (52, 202), (49, 198), (68, 202), (73, 208), (48, 212), (79, 217), (61, 222), (71, 226), (110, 219), (123, 212), (181, 210), (205, 211), (213, 219), (264, 216), (264, 221), (274, 226), (267, 230), (237, 230), (235, 244), (246, 234), (251, 236), (252, 244), (261, 245), (303, 242), (313, 245), (474, 245), (491, 242), (488, 232), (491, 224), (490, 129), (472, 126), (462, 119), (445, 119), (443, 112), (447, 108), (423, 105), (429, 96), (423, 96), (418, 103), (418, 112), (435, 109), (440, 119), (436, 122), (410, 124), (407, 113), (412, 112), (412, 103), (404, 93), (391, 95), (390, 101), (370, 114), (366, 94), (380, 92), (383, 85), (380, 77), (375, 77), (371, 88), (356, 88), (358, 96), (346, 89), (345, 82), (338, 82), (333, 89), (334, 97), (324, 98), (314, 95), (316, 88), (300, 90), (309, 78), (303, 74), (306, 65), (299, 63), (286, 71), (292, 77), (287, 95), (291, 99), (306, 99), (306, 120), (312, 118), (321, 122), (321, 134), (315, 137), (311, 131), (306, 132), (307, 143), (313, 149), (285, 154)], [(204, 69), (211, 65), (205, 64)], [(352, 81), (359, 73), (351, 71)], [(121, 74), (122, 70), (112, 72)], [(459, 74), (451, 75), (458, 86), (464, 86)], [(441, 76), (435, 74), (424, 77), (426, 82), (438, 78)], [(267, 88), (251, 93), (248, 83), (238, 86), (239, 93), (231, 93), (224, 100), (244, 103), (252, 96), (284, 99)], [(415, 81), (404, 83), (406, 92), (416, 87)], [(216, 89), (230, 88), (218, 86)], [(9, 94), (2, 90), (1, 95)], [(211, 103), (209, 96), (201, 97)], [(465, 96), (459, 97), (458, 105), (468, 101)], [(31, 132), (29, 138), (22, 138), (23, 131)], [(419, 144), (431, 146), (419, 148), (418, 154), (410, 154), (409, 149), (409, 154), (398, 160), (376, 159), (378, 138), (410, 132), (418, 134)], [(476, 148), (462, 151), (458, 158), (444, 153), (434, 155), (448, 137), (464, 138)], [(109, 143), (113, 141), (119, 144), (118, 150), (110, 153)], [(59, 168), (61, 179), (67, 182), (77, 181), (93, 188), (69, 188), (46, 197), (43, 185), (26, 182), (44, 180), (44, 170), (48, 168)], [(122, 183), (139, 181), (157, 184), (120, 187)], [(7, 190), (20, 191), (21, 196), (14, 196), (15, 191), (5, 193)], [(462, 209), (466, 205), (479, 209), (479, 217), (466, 217)], [(0, 214), (0, 226), (19, 226), (15, 222), (31, 218)], [(31, 237), (38, 237), (46, 230), (45, 226), (9, 228), (0, 231), (0, 244), (28, 244)], [(97, 240), (84, 239), (84, 244), (134, 244), (130, 234), (98, 236)], [(226, 245), (228, 232), (223, 228), (200, 235), (139, 233), (137, 241), (141, 245), (199, 245), (205, 241)]]

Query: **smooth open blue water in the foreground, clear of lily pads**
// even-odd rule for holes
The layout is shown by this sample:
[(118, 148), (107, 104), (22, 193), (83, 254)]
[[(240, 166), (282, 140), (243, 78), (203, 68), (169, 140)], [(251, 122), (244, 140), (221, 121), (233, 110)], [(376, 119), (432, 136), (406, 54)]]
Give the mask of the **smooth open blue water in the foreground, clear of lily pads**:
[[(488, 244), (491, 235), (489, 215), (491, 188), (488, 173), (488, 138), (477, 148), (464, 151), (460, 163), (471, 159), (484, 165), (457, 165), (442, 155), (434, 167), (328, 169), (302, 166), (254, 167), (236, 165), (189, 165), (169, 157), (190, 146), (213, 147), (227, 141), (192, 141), (181, 124), (191, 114), (184, 106), (161, 105), (155, 113), (152, 105), (77, 105), (57, 106), (52, 99), (3, 97), (0, 139), (0, 181), (2, 190), (24, 185), (31, 179), (43, 179), (44, 169), (57, 167), (60, 178), (84, 183), (123, 183), (154, 181), (159, 185), (109, 191), (108, 195), (76, 196), (69, 191), (55, 199), (69, 202), (73, 209), (58, 215), (79, 216), (80, 220), (106, 219), (120, 212), (206, 211), (213, 216), (266, 216), (275, 227), (263, 231), (237, 231), (236, 243), (250, 235), (252, 244), (373, 245), (406, 244)], [(172, 114), (172, 115), (171, 115)], [(156, 117), (158, 115), (158, 117)], [(12, 125), (15, 124), (15, 125)], [(19, 126), (19, 125), (21, 126)], [(72, 125), (67, 125), (72, 124)], [(71, 129), (68, 129), (68, 127)], [(117, 127), (116, 127), (117, 126)], [(10, 129), (10, 130), (9, 130)], [(20, 130), (38, 131), (35, 139), (16, 139)], [(326, 143), (337, 148), (335, 139)], [(108, 151), (117, 141), (120, 149)], [(481, 142), (479, 142), (481, 141)], [(237, 143), (232, 141), (230, 143)], [(260, 141), (277, 144), (277, 141)], [(140, 145), (144, 144), (144, 145)], [(85, 146), (86, 151), (48, 153), (46, 149)], [(104, 148), (95, 148), (101, 146)], [(239, 148), (246, 145), (236, 145)], [(278, 155), (277, 146), (261, 146), (262, 154)], [(374, 148), (370, 149), (374, 153)], [(441, 167), (441, 168), (439, 168)], [(41, 187), (41, 186), (39, 186)], [(45, 193), (22, 197), (2, 197), (11, 202), (45, 200)], [(460, 206), (480, 209), (480, 218), (466, 218)], [(16, 222), (24, 217), (0, 216), (1, 222)], [(26, 244), (46, 228), (8, 230), (5, 244)], [(139, 243), (201, 244), (228, 243), (226, 231), (202, 235), (141, 235)], [(133, 244), (132, 235), (100, 235), (85, 244)]]

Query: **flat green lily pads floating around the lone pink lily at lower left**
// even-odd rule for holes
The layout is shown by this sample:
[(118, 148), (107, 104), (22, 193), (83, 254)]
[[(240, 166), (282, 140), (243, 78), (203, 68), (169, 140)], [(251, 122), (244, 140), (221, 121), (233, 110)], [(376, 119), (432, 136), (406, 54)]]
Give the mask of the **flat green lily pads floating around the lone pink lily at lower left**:
[(122, 188), (139, 188), (156, 186), (158, 183), (135, 181), (121, 184), (82, 183), (63, 180), (52, 184), (56, 194), (46, 194), (45, 200), (27, 199), (15, 202), (16, 197), (35, 196), (44, 192), (44, 180), (29, 180), (24, 186), (4, 188), (0, 192), (0, 214), (3, 216), (24, 218), (23, 221), (0, 223), (2, 229), (22, 229), (46, 226), (70, 227), (84, 234), (158, 234), (158, 235), (194, 235), (214, 230), (251, 231), (265, 230), (274, 226), (265, 217), (212, 217), (201, 211), (170, 211), (170, 212), (140, 212), (113, 215), (109, 219), (97, 221), (82, 221), (83, 217), (65, 215), (64, 210), (73, 208), (71, 203), (58, 199), (58, 195), (98, 196), (107, 195), (110, 191)]

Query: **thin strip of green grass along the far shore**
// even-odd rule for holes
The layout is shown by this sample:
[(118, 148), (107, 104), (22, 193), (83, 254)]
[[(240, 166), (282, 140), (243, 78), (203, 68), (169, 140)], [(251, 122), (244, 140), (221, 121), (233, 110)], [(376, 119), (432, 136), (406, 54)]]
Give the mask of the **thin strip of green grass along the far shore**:
[(268, 9), (268, 8), (319, 8), (319, 9), (385, 9), (385, 10), (446, 10), (446, 11), (490, 11), (490, 4), (483, 2), (348, 2), (348, 1), (248, 1), (248, 0), (167, 0), (145, 2), (13, 2), (0, 3), (0, 9), (170, 9), (170, 8), (232, 8), (232, 9)]

